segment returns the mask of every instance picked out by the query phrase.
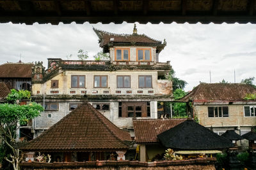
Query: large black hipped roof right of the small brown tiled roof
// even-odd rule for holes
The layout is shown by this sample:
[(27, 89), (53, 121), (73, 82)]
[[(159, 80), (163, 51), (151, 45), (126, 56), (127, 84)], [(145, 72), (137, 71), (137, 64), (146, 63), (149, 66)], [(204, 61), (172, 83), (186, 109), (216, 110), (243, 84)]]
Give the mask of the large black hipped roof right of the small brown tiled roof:
[(230, 140), (190, 119), (157, 135), (157, 138), (163, 146), (175, 150), (221, 150), (233, 146)]

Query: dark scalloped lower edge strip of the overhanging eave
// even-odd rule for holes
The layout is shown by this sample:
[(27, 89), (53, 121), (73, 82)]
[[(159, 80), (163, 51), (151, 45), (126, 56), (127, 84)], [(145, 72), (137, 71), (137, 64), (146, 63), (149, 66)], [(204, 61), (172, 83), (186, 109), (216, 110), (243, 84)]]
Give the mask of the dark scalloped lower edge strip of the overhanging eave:
[(122, 22), (127, 21), (128, 23), (134, 22), (163, 22), (163, 23), (197, 23), (202, 22), (203, 24), (208, 24), (209, 22), (213, 22), (214, 24), (221, 24), (223, 22), (228, 22), (229, 24), (238, 22), (239, 24), (246, 24), (251, 22), (252, 24), (256, 24), (256, 17), (249, 15), (234, 15), (234, 16), (173, 16), (173, 15), (140, 15), (140, 16), (131, 16), (131, 15), (118, 15), (118, 16), (0, 16), (0, 23), (13, 22), (13, 24), (17, 23), (35, 23), (39, 24), (51, 23), (51, 22), (63, 22), (65, 24), (70, 24), (71, 22), (90, 22), (91, 24), (97, 22), (111, 23), (111, 22)]

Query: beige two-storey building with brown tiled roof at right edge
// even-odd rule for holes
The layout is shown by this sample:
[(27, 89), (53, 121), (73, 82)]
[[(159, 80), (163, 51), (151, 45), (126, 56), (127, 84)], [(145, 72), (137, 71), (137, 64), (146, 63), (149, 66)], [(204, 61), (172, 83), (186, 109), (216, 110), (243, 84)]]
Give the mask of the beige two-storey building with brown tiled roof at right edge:
[(193, 116), (217, 134), (236, 130), (243, 135), (256, 125), (256, 101), (244, 98), (255, 93), (252, 85), (200, 83), (180, 101), (192, 102)]

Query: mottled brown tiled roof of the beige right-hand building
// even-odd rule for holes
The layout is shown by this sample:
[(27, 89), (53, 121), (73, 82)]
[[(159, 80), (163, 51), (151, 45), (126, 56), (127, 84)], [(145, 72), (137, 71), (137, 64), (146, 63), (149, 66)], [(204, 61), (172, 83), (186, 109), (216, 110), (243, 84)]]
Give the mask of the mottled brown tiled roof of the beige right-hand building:
[(246, 94), (256, 93), (252, 85), (241, 83), (200, 83), (179, 101), (243, 101)]

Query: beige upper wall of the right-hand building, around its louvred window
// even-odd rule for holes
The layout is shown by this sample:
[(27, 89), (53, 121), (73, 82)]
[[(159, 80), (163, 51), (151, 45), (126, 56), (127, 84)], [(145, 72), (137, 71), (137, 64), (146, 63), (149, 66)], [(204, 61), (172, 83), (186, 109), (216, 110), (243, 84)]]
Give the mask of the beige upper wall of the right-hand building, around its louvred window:
[[(208, 117), (209, 106), (228, 106), (228, 117)], [(195, 105), (194, 114), (200, 124), (205, 127), (252, 127), (256, 125), (256, 117), (244, 117), (243, 104), (229, 105)]]

